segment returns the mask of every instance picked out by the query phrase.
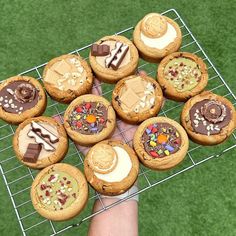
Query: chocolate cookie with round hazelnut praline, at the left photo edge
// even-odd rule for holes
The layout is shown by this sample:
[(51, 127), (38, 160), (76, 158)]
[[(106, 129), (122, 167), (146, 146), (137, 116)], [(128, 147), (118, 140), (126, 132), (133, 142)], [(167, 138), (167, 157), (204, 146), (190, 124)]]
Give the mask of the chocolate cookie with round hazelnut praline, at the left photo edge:
[(47, 106), (47, 97), (41, 84), (29, 76), (14, 76), (0, 84), (0, 118), (19, 124), (41, 115)]

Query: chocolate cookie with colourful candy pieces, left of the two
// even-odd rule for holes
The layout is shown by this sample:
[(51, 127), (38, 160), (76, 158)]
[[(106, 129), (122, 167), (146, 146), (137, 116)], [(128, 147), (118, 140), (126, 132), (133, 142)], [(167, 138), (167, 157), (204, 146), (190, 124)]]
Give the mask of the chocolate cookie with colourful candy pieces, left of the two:
[(116, 115), (111, 104), (97, 95), (87, 94), (76, 98), (64, 114), (68, 135), (83, 146), (108, 138), (115, 125)]

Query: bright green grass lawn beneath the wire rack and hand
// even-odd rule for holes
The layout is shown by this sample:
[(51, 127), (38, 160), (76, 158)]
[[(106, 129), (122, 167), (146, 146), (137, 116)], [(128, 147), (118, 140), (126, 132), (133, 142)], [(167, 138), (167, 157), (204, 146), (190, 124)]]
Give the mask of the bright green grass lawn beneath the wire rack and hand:
[[(175, 8), (184, 18), (200, 44), (212, 59), (215, 66), (235, 91), (236, 28), (235, 1), (3, 1), (0, 0), (0, 80), (18, 74), (28, 68), (41, 64), (51, 58), (82, 47), (104, 35), (135, 25), (148, 12), (162, 12)], [(86, 56), (86, 55), (83, 55)], [(153, 69), (153, 65), (151, 66)], [(213, 73), (209, 71), (209, 73)], [(36, 76), (32, 74), (32, 76)], [(220, 83), (220, 81), (215, 81)], [(208, 88), (217, 84), (210, 83)], [(107, 89), (107, 88), (105, 88)], [(223, 88), (217, 93), (225, 93)], [(175, 103), (167, 103), (165, 109)], [(61, 111), (64, 106), (60, 106)], [(180, 110), (180, 109), (179, 109)], [(178, 110), (178, 112), (179, 112)], [(48, 109), (46, 114), (55, 111)], [(171, 118), (177, 118), (176, 110), (168, 112)], [(3, 123), (0, 122), (0, 125)], [(11, 132), (9, 128), (0, 130), (0, 138)], [(200, 148), (193, 153), (195, 161), (218, 153), (232, 145), (231, 138), (224, 145), (212, 148)], [(0, 142), (0, 149), (11, 144), (10, 139)], [(196, 146), (191, 143), (191, 147)], [(73, 153), (72, 148), (70, 152)], [(0, 153), (0, 160), (12, 155), (12, 150)], [(69, 163), (75, 162), (71, 156)], [(178, 177), (167, 181), (140, 195), (139, 232), (140, 235), (236, 235), (236, 154), (230, 151), (222, 157), (210, 160)], [(152, 182), (160, 180), (177, 170), (189, 166), (189, 159), (172, 172), (149, 172)], [(17, 166), (16, 161), (4, 164), (10, 169)], [(36, 172), (34, 171), (33, 174)], [(8, 181), (27, 174), (26, 168), (19, 168), (8, 175)], [(14, 192), (27, 187), (30, 178), (13, 185)], [(140, 187), (147, 185), (140, 178)], [(1, 235), (21, 235), (20, 227), (11, 204), (3, 179), (0, 178), (0, 231)], [(16, 199), (28, 200), (24, 194)], [(91, 204), (82, 216), (89, 214)], [(22, 207), (22, 215), (32, 211), (31, 204)], [(82, 217), (81, 216), (81, 217)], [(72, 220), (78, 222), (81, 217)], [(30, 226), (42, 220), (25, 220)], [(33, 221), (33, 222), (32, 222)], [(61, 228), (68, 223), (56, 223)], [(88, 222), (79, 228), (66, 231), (63, 235), (86, 235)], [(31, 235), (47, 235), (48, 223), (37, 227)]]

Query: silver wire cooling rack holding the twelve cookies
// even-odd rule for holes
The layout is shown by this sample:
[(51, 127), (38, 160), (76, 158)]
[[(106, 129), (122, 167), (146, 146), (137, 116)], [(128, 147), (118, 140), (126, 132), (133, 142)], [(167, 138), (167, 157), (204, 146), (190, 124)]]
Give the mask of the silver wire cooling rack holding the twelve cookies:
[[(228, 98), (235, 105), (235, 95), (226, 84), (218, 70), (215, 68), (211, 60), (208, 58), (205, 51), (202, 49), (195, 36), (189, 30), (179, 13), (175, 9), (170, 9), (163, 12), (162, 14), (174, 19), (180, 25), (183, 34), (181, 51), (195, 53), (204, 59), (205, 63), (208, 66), (209, 73), (209, 83), (207, 89)], [(133, 27), (130, 27), (116, 33), (116, 35), (124, 35), (128, 38), (132, 38), (132, 32)], [(91, 44), (77, 49), (71, 52), (71, 54), (79, 54), (87, 59), (90, 46)], [(33, 76), (41, 80), (42, 71), (46, 64), (47, 63), (35, 66), (34, 68), (22, 72), (21, 75)], [(149, 75), (153, 77), (156, 76), (155, 64), (150, 64), (140, 59), (139, 65), (139, 70), (145, 70)], [(113, 88), (114, 85), (102, 84), (102, 95), (110, 100)], [(168, 116), (174, 120), (179, 121), (179, 115), (182, 106), (183, 103), (166, 100), (165, 105), (159, 115)], [(66, 105), (55, 102), (48, 96), (48, 106), (44, 115), (62, 116), (65, 109)], [(90, 188), (90, 198), (87, 207), (78, 217), (66, 222), (52, 222), (50, 220), (42, 218), (32, 207), (30, 200), (30, 188), (32, 181), (38, 171), (27, 168), (16, 160), (12, 149), (12, 137), (14, 135), (15, 129), (15, 126), (0, 121), (0, 170), (23, 235), (39, 235), (40, 232), (43, 232), (43, 235), (56, 235), (63, 232), (63, 235), (65, 235), (66, 232), (68, 232), (67, 230), (73, 230), (73, 228), (79, 226), (81, 223), (87, 221), (88, 219), (91, 219), (93, 216), (117, 204), (120, 204), (123, 201), (126, 201), (128, 198), (134, 195), (140, 194), (150, 188), (153, 188), (156, 185), (170, 180), (183, 172), (191, 170), (208, 160), (220, 157), (230, 150), (232, 152), (232, 150), (236, 147), (235, 133), (233, 133), (225, 143), (214, 147), (203, 147), (190, 142), (190, 148), (184, 162), (171, 171), (155, 172), (141, 166), (138, 178), (139, 191), (133, 193), (129, 197), (126, 197), (123, 200), (118, 200), (111, 205), (105, 206), (100, 195), (92, 188)], [(123, 130), (121, 127), (119, 127), (118, 121), (117, 134), (123, 135), (124, 132), (128, 131)], [(132, 140), (126, 139), (125, 141), (128, 143)], [(80, 153), (80, 151), (72, 141), (70, 141), (69, 145), (69, 152), (63, 162), (83, 169), (83, 155)], [(93, 202), (97, 198), (101, 202), (102, 209), (91, 214)]]

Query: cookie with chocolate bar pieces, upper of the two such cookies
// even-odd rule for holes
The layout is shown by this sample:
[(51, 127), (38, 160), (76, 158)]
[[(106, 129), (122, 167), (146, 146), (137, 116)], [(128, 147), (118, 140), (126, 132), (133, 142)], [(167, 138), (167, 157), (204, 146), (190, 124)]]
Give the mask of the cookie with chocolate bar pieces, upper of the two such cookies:
[(96, 77), (106, 83), (135, 73), (139, 55), (133, 43), (124, 36), (106, 36), (91, 46), (89, 61)]

